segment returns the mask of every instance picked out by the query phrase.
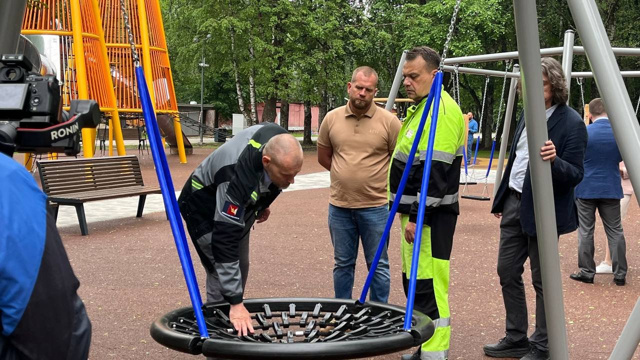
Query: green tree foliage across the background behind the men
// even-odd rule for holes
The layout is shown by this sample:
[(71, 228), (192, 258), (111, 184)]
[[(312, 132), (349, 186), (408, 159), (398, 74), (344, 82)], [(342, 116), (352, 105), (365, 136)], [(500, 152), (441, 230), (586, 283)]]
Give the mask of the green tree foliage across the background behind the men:
[[(180, 102), (200, 101), (200, 67), (204, 53), (204, 99), (223, 117), (239, 113), (236, 74), (246, 106), (249, 78), (255, 79), (257, 102), (287, 99), (328, 104), (346, 101), (346, 83), (360, 65), (378, 70), (380, 97), (385, 97), (403, 49), (428, 45), (442, 52), (455, 0), (161, 0), (164, 26)], [(640, 1), (596, 0), (612, 44), (640, 46)], [(538, 0), (541, 47), (563, 44), (564, 31), (575, 29), (566, 2)], [(232, 29), (235, 51), (231, 47)], [(194, 37), (212, 37), (193, 42)], [(580, 37), (576, 37), (580, 45)], [(255, 56), (250, 54), (253, 49)], [(450, 57), (516, 50), (512, 0), (463, 0), (451, 40)], [(619, 58), (623, 70), (638, 69), (637, 58)], [(504, 71), (502, 61), (467, 64)], [(589, 70), (584, 56), (573, 69)], [(447, 79), (447, 78), (445, 78)], [(508, 83), (508, 82), (507, 82)], [(627, 80), (634, 101), (640, 81)], [(445, 84), (447, 88), (451, 83)], [(479, 118), (482, 76), (461, 76), (461, 108)], [(486, 96), (483, 138), (490, 142), (498, 117), (502, 78), (492, 78)], [(399, 96), (403, 96), (403, 92)], [(505, 94), (506, 97), (507, 94)], [(586, 101), (597, 88), (586, 80)], [(571, 103), (581, 108), (579, 87), (572, 83)], [(504, 111), (504, 110), (503, 110)]]

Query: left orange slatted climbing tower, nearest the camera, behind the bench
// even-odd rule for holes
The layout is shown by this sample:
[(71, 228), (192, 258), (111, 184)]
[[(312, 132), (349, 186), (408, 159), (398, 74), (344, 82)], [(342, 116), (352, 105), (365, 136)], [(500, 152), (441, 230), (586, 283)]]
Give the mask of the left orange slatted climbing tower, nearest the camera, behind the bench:
[[(41, 0), (27, 8), (22, 35), (54, 64), (61, 83), (61, 101), (93, 99), (111, 115), (118, 155), (124, 155), (120, 116), (102, 33), (97, 0)], [(83, 129), (83, 153), (93, 156), (95, 129)]]

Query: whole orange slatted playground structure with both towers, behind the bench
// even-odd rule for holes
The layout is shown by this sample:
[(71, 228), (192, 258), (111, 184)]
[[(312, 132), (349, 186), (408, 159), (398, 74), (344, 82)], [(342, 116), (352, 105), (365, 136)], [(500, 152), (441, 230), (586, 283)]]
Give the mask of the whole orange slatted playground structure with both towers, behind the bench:
[[(125, 6), (154, 110), (173, 117), (180, 163), (186, 163), (159, 1), (125, 0)], [(52, 63), (63, 106), (97, 101), (109, 119), (109, 155), (113, 139), (117, 154), (125, 155), (122, 119), (141, 120), (142, 110), (120, 0), (39, 1), (25, 13), (22, 35)], [(95, 136), (95, 129), (83, 129), (84, 157), (93, 156)]]

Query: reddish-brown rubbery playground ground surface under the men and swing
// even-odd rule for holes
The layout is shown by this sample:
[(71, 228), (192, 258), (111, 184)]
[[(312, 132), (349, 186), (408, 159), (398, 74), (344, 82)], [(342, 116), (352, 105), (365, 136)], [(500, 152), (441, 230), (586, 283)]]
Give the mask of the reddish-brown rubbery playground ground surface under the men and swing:
[[(173, 183), (180, 188), (191, 170), (211, 149), (196, 149), (188, 164), (169, 156)], [(132, 151), (129, 151), (132, 152)], [(322, 171), (315, 152), (305, 154), (303, 174)], [(150, 156), (145, 154), (144, 179), (156, 183)], [(479, 186), (472, 187), (479, 193)], [(272, 206), (271, 218), (255, 226), (251, 242), (251, 272), (246, 297), (332, 297), (332, 245), (326, 224), (328, 189), (283, 193)], [(629, 273), (627, 286), (616, 286), (612, 275), (597, 275), (595, 284), (569, 279), (577, 269), (577, 237), (559, 243), (564, 308), (572, 359), (607, 359), (640, 293), (636, 273), (640, 215), (636, 200), (624, 222)], [(450, 359), (490, 359), (484, 343), (504, 332), (504, 306), (495, 271), (499, 220), (489, 214), (491, 202), (461, 200), (451, 258)], [(81, 281), (79, 293), (93, 323), (90, 359), (196, 359), (168, 350), (148, 334), (150, 324), (164, 313), (188, 306), (182, 270), (169, 223), (163, 213), (90, 224), (90, 235), (77, 226), (60, 229), (68, 256)], [(604, 257), (604, 231), (596, 227), (596, 260)], [(390, 241), (392, 289), (390, 303), (404, 306), (397, 227)], [(193, 259), (197, 256), (192, 254)], [(202, 288), (204, 272), (196, 260)], [(364, 283), (362, 255), (354, 294)], [(534, 291), (525, 270), (530, 320)], [(634, 359), (637, 358), (634, 357)], [(392, 354), (375, 359), (399, 359)]]

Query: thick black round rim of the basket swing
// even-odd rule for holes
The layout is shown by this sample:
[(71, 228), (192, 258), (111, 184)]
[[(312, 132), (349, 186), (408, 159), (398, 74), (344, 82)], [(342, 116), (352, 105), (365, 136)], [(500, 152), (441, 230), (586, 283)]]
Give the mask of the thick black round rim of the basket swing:
[[(351, 299), (324, 298), (274, 298), (248, 299), (243, 304), (250, 313), (262, 310), (264, 304), (269, 304), (275, 312), (287, 311), (289, 304), (296, 304), (300, 311), (311, 311), (316, 304), (323, 305), (323, 311), (335, 312), (342, 305), (363, 307), (371, 306), (380, 311), (395, 311), (404, 313), (404, 307), (383, 304), (380, 302), (365, 302), (360, 304)], [(228, 307), (223, 303), (207, 303), (203, 307)], [(282, 310), (281, 310), (282, 309)], [(326, 343), (250, 343), (237, 340), (220, 340), (208, 338), (202, 340), (198, 335), (183, 334), (174, 331), (170, 323), (180, 317), (193, 318), (193, 307), (182, 307), (161, 316), (151, 325), (151, 337), (161, 345), (179, 352), (192, 355), (203, 354), (211, 357), (227, 357), (230, 359), (356, 359), (360, 357), (379, 356), (415, 347), (433, 336), (435, 326), (431, 319), (413, 311), (413, 325), (411, 331), (400, 331), (396, 334), (380, 336), (372, 339), (357, 339)]]

